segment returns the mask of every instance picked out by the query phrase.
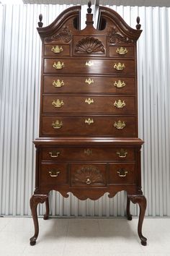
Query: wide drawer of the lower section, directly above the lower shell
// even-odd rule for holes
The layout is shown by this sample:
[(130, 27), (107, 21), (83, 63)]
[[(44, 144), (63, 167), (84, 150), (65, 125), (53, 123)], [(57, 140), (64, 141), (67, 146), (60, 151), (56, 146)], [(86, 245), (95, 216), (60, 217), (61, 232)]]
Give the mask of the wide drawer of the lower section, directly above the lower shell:
[(133, 148), (42, 148), (42, 161), (134, 161)]

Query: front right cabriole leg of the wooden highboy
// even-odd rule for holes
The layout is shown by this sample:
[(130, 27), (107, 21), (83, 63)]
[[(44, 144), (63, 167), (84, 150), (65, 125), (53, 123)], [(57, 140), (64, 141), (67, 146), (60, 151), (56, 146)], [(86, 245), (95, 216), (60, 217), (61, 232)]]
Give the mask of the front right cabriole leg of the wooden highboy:
[(146, 197), (144, 195), (128, 195), (133, 203), (138, 203), (140, 208), (139, 221), (138, 221), (138, 236), (140, 237), (141, 244), (146, 245), (147, 239), (142, 234), (143, 218), (146, 212)]

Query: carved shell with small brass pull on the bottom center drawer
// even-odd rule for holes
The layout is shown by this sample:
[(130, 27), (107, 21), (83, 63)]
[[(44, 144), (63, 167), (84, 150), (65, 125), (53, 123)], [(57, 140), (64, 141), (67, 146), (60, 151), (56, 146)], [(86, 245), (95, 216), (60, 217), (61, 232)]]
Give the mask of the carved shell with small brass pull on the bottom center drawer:
[(94, 183), (102, 183), (104, 184), (104, 178), (96, 167), (87, 166), (82, 167), (77, 170), (73, 176), (74, 183), (81, 184), (94, 184)]

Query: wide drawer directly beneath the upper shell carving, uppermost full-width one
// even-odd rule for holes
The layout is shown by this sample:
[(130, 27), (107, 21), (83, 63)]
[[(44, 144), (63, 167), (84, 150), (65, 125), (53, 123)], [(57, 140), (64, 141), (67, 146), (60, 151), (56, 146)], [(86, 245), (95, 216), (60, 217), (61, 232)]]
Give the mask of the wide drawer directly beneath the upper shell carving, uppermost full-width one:
[(125, 59), (44, 59), (44, 72), (58, 74), (134, 74), (135, 61)]

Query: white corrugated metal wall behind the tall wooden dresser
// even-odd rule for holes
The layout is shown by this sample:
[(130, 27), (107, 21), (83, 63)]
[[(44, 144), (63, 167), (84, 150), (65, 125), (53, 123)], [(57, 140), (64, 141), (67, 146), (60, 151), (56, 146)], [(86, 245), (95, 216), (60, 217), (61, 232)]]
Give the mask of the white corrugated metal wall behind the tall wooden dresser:
[[(38, 15), (48, 25), (66, 5), (0, 5), (0, 214), (30, 216), (40, 96)], [(170, 8), (112, 7), (143, 33), (138, 42), (139, 135), (147, 216), (170, 216)], [(86, 6), (82, 7), (84, 20)], [(125, 192), (80, 201), (50, 195), (53, 216), (124, 216)], [(40, 205), (40, 214), (44, 207)], [(132, 206), (133, 214), (137, 208)]]

